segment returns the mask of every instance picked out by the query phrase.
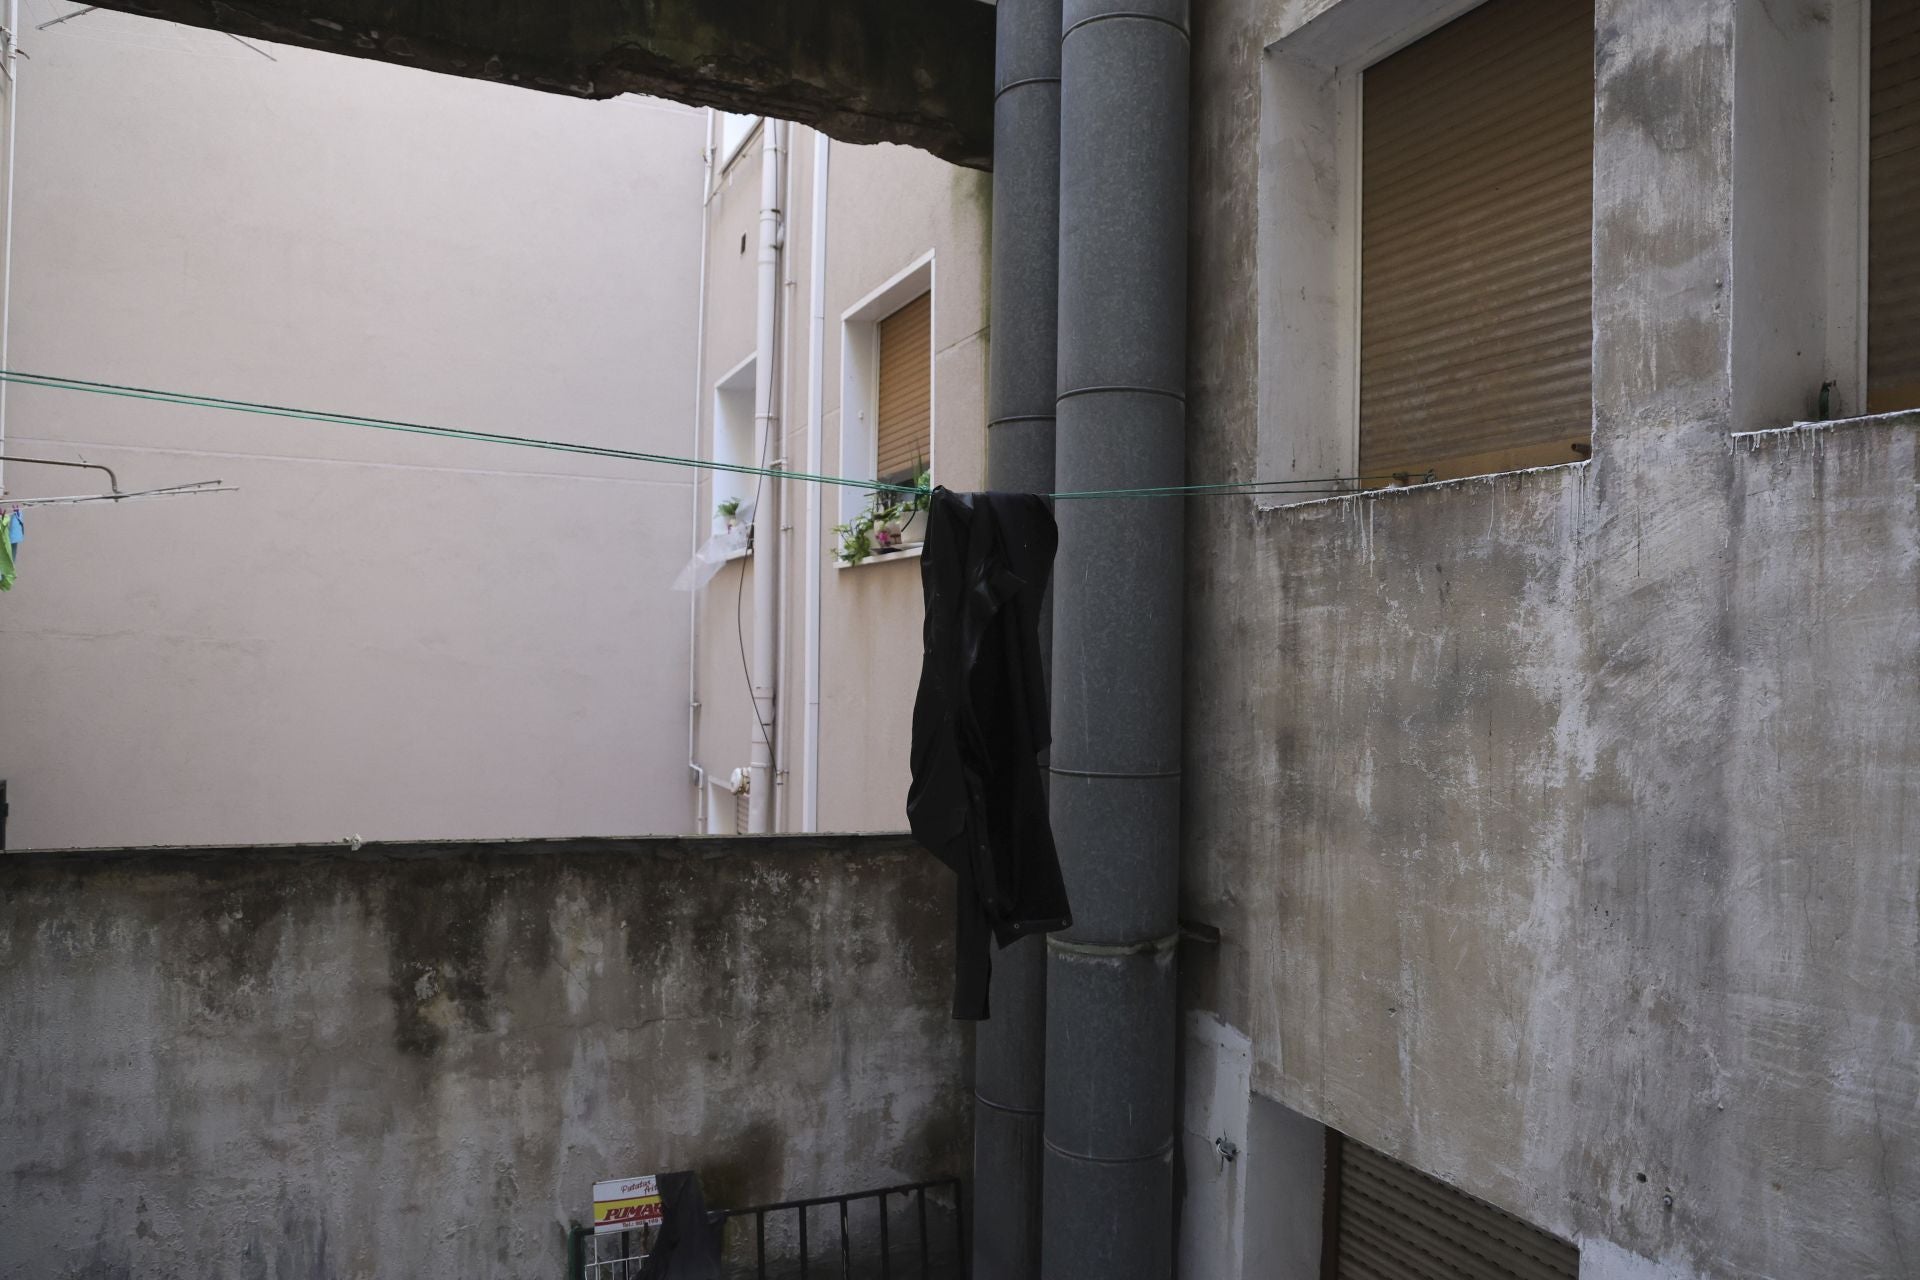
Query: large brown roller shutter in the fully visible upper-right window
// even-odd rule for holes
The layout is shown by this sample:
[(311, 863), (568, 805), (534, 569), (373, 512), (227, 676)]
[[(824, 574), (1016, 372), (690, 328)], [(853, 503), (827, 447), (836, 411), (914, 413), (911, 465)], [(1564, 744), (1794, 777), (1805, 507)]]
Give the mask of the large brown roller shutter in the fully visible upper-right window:
[(1369, 67), (1361, 94), (1361, 474), (1576, 461), (1594, 420), (1594, 2), (1488, 0)]

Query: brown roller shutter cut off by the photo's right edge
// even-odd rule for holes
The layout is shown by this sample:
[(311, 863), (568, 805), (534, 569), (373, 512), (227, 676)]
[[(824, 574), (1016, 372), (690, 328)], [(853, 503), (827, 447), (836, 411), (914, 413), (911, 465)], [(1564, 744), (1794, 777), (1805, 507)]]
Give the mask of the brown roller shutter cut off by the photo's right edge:
[(1866, 411), (1920, 407), (1920, 0), (1868, 10)]

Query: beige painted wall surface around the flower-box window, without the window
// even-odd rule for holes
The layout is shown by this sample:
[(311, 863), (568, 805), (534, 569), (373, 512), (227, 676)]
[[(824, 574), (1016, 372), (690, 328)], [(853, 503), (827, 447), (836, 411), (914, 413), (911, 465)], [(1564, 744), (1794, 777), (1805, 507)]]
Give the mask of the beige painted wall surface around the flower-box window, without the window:
[[(793, 129), (787, 253), (783, 259), (785, 367), (783, 439), (789, 466), (806, 459), (808, 288), (812, 282), (812, 175), (816, 134)], [(760, 138), (755, 136), (714, 178), (708, 209), (707, 292), (708, 395), (703, 449), (712, 449), (710, 388), (753, 355), (755, 253), (760, 211)], [(991, 178), (897, 146), (833, 144), (828, 177), (828, 288), (824, 355), (826, 470), (839, 474), (843, 317), (874, 290), (931, 253), (933, 257), (933, 455), (935, 482), (973, 489), (985, 482), (987, 428), (987, 251)], [(745, 236), (745, 251), (741, 238)], [(703, 482), (703, 491), (710, 489)], [(712, 505), (703, 507), (705, 512)], [(804, 518), (806, 491), (789, 484), (781, 597), (783, 829), (801, 825), (804, 697)], [(822, 491), (822, 677), (820, 827), (899, 831), (906, 827), (908, 741), (920, 677), (920, 560), (837, 568), (831, 526), (841, 520), (837, 489)], [(705, 533), (705, 514), (703, 514)], [(747, 764), (753, 706), (741, 670), (739, 635), (753, 649), (753, 568), (726, 566), (701, 603), (699, 762), (724, 779)], [(743, 583), (741, 578), (747, 578)], [(745, 585), (745, 589), (743, 589)], [(739, 620), (735, 633), (735, 616)]]

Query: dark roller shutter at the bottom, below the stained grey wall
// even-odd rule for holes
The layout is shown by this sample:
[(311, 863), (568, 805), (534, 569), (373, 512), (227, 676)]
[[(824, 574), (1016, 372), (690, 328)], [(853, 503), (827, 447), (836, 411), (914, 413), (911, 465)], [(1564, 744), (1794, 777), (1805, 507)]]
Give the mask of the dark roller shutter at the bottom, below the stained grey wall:
[(1580, 1251), (1511, 1213), (1329, 1134), (1327, 1280), (1578, 1280)]

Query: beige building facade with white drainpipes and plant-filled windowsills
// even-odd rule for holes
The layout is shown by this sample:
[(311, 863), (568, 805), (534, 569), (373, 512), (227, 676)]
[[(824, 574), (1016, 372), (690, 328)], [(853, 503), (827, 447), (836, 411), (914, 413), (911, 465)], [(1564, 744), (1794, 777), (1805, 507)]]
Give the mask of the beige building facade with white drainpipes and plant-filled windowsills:
[[(780, 449), (755, 457), (755, 413), (764, 409), (756, 405), (756, 267), (768, 125), (716, 115), (697, 453), (789, 472), (806, 472), (814, 459), (812, 470), (847, 482), (780, 484), (770, 829), (900, 831), (922, 652), (918, 526), (910, 512), (895, 512), (862, 545), (835, 526), (862, 524), (876, 507), (876, 482), (912, 484), (925, 474), (975, 489), (985, 480), (991, 180), (908, 148), (778, 129), (787, 138), (776, 186), (783, 248), (772, 413)], [(820, 148), (828, 148), (824, 169)], [(818, 445), (810, 449), (812, 432)], [(758, 731), (749, 662), (760, 549), (749, 553), (745, 526), (770, 484), (703, 472), (695, 497), (691, 545), (707, 549), (701, 564), (710, 576), (685, 580), (703, 580), (691, 620), (689, 771), (695, 821), (707, 833), (751, 825), (743, 787)], [(897, 501), (881, 491), (877, 505)], [(732, 535), (726, 510), (735, 512)], [(891, 530), (899, 539), (889, 545)], [(810, 618), (818, 618), (816, 631)]]

